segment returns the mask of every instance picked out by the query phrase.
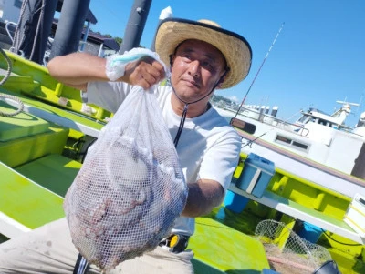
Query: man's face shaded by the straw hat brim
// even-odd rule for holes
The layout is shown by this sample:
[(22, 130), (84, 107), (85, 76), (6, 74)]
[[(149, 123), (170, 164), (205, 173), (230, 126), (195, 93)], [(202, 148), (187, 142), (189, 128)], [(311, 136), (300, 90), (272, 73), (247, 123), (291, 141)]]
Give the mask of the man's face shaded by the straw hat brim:
[(185, 102), (193, 102), (212, 91), (224, 67), (224, 56), (216, 47), (186, 40), (172, 56), (172, 86)]

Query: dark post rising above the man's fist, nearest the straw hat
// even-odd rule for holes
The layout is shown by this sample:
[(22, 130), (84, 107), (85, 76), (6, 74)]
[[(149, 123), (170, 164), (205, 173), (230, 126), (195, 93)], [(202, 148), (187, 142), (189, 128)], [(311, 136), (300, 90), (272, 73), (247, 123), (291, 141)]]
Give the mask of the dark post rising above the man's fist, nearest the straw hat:
[(124, 33), (123, 43), (120, 46), (120, 54), (123, 54), (125, 51), (128, 51), (133, 47), (140, 46), (141, 36), (150, 12), (151, 2), (152, 0), (134, 1), (130, 11), (130, 18)]

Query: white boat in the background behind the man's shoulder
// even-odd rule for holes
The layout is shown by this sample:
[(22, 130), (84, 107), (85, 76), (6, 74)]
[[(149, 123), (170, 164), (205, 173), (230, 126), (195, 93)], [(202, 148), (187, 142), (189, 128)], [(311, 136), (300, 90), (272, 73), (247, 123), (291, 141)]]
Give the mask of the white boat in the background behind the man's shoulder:
[(216, 107), (243, 137), (242, 151), (266, 155), (276, 167), (353, 198), (365, 195), (362, 171), (365, 136), (363, 123), (345, 126), (349, 103), (332, 115), (318, 109), (302, 111), (291, 124), (260, 109), (243, 107), (239, 113)]

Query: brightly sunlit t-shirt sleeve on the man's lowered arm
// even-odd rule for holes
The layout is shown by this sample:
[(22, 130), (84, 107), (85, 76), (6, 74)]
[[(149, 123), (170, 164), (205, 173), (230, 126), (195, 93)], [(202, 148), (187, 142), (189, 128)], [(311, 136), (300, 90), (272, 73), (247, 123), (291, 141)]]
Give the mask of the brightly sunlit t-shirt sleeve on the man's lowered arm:
[(215, 180), (222, 185), (225, 191), (229, 188), (235, 167), (237, 167), (240, 150), (241, 137), (232, 128), (205, 151), (199, 178)]

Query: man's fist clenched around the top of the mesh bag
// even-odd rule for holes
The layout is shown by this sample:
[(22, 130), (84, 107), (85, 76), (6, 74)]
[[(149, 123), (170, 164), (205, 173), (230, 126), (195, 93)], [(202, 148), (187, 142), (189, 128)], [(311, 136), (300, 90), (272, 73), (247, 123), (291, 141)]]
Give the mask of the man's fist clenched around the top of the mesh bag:
[(133, 86), (137, 85), (143, 89), (149, 89), (161, 82), (164, 77), (165, 72), (162, 64), (150, 56), (146, 56), (127, 64), (125, 74), (120, 80)]

